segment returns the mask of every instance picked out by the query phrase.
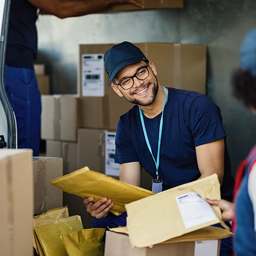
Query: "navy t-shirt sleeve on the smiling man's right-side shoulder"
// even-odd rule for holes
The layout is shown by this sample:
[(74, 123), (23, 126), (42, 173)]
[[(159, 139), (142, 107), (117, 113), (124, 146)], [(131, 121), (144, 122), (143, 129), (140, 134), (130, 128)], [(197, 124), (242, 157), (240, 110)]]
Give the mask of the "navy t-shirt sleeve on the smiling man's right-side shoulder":
[(195, 146), (226, 137), (219, 107), (204, 95), (195, 98), (190, 106), (189, 127)]

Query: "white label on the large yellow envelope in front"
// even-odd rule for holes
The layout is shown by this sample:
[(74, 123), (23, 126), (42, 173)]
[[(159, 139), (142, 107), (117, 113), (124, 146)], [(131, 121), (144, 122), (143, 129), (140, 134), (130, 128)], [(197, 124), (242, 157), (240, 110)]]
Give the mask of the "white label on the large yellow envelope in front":
[(217, 219), (211, 206), (197, 193), (189, 192), (176, 197), (185, 228)]

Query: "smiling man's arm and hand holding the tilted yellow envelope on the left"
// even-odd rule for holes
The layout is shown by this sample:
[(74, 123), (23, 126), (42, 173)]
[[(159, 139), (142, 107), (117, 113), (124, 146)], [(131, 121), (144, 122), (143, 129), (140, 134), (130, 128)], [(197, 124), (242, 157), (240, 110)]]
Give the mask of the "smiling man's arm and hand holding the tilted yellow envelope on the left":
[[(120, 164), (120, 181), (140, 186), (141, 180), (141, 165), (139, 162), (122, 163)], [(93, 197), (84, 198), (83, 204), (87, 208), (87, 212), (91, 216), (100, 219), (109, 214), (109, 211), (114, 206), (110, 199), (101, 198), (97, 202), (93, 203)]]

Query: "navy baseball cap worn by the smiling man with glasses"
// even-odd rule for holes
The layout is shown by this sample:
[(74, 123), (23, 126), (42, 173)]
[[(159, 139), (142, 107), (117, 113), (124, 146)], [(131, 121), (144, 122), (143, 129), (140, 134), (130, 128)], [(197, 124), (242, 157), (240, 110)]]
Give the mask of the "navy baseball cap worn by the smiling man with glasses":
[(104, 54), (105, 71), (110, 82), (123, 67), (141, 60), (148, 62), (143, 52), (131, 42), (124, 41), (113, 46)]

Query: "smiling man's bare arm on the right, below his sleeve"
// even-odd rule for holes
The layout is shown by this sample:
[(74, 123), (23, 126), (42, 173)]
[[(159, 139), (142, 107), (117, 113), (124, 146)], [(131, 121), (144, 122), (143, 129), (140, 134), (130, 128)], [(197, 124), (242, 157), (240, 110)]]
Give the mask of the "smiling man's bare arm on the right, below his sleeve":
[(219, 139), (196, 147), (197, 163), (201, 178), (217, 174), (222, 185), (224, 176), (224, 139)]

